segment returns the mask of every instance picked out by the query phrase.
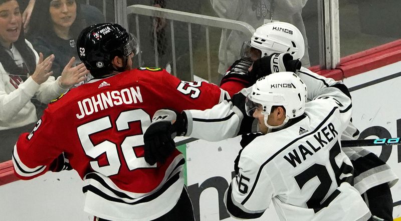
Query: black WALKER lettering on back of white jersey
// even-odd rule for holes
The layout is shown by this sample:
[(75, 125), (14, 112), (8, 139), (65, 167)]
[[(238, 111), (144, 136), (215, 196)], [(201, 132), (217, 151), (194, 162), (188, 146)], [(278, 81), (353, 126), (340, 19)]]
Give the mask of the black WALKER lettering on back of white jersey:
[[(337, 135), (338, 132), (334, 128), (334, 125), (329, 123), (307, 139), (305, 141), (307, 145), (300, 144), (298, 148), (294, 148), (292, 151), (288, 152), (288, 154), (284, 155), (284, 158), (291, 163), (292, 166), (296, 167), (297, 162), (301, 164), (308, 154), (313, 155), (315, 152), (319, 151), (319, 149), (326, 146)], [(300, 156), (302, 156), (302, 158)]]

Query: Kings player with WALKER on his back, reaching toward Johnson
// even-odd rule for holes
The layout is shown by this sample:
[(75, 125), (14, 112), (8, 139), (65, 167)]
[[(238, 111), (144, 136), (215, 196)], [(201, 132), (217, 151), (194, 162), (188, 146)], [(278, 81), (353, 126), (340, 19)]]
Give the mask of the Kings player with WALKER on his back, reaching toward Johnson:
[(343, 84), (328, 86), (306, 103), (307, 86), (295, 73), (272, 73), (241, 91), (248, 94), (245, 105), (233, 97), (205, 111), (159, 110), (152, 124), (180, 118), (170, 131), (186, 128), (187, 136), (220, 140), (241, 130), (244, 114), (258, 119), (262, 133), (241, 151), (226, 192), (234, 217), (260, 217), (273, 201), (281, 220), (368, 220), (339, 142), (352, 110), (346, 91)]

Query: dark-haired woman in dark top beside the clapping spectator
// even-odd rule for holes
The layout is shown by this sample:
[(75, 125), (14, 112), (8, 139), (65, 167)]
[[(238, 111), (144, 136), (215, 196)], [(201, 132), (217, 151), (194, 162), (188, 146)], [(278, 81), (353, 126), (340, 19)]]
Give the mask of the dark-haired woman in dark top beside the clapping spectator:
[[(76, 38), (86, 26), (75, 0), (40, 0), (32, 11), (28, 39), (44, 56), (55, 55), (53, 76), (58, 77), (72, 56), (78, 56)], [(77, 59), (76, 62), (79, 62)]]

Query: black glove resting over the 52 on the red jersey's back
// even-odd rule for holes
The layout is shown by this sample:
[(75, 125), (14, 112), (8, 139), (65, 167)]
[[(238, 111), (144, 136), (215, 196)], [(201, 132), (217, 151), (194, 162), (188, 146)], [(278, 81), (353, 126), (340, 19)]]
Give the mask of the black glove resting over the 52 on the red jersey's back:
[(174, 137), (184, 135), (184, 114), (170, 109), (157, 110), (143, 135), (145, 161), (150, 165), (164, 163), (175, 148)]

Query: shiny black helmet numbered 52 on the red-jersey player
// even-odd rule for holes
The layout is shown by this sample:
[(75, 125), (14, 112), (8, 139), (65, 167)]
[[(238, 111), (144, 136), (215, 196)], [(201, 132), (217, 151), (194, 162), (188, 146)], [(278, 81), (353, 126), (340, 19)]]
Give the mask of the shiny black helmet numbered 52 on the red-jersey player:
[(108, 75), (116, 69), (111, 61), (115, 56), (127, 62), (128, 55), (138, 51), (138, 44), (133, 35), (117, 23), (99, 23), (86, 27), (78, 36), (78, 56), (94, 77)]

